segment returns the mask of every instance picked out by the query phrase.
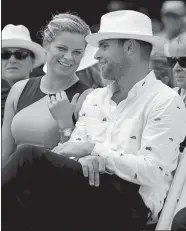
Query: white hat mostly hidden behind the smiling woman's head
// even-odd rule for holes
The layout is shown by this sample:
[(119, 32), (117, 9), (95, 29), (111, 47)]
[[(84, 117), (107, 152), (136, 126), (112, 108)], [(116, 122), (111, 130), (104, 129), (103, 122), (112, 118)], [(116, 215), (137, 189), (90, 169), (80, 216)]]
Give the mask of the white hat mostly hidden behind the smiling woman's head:
[[(98, 60), (94, 59), (94, 55), (96, 54), (98, 48), (93, 47), (89, 44), (87, 44), (87, 47), (85, 49), (85, 53), (83, 58), (81, 59), (81, 62), (79, 64), (77, 71), (82, 71), (88, 67), (93, 66), (94, 64), (98, 63)], [(43, 71), (46, 73), (47, 72), (47, 65), (45, 64), (43, 67)]]

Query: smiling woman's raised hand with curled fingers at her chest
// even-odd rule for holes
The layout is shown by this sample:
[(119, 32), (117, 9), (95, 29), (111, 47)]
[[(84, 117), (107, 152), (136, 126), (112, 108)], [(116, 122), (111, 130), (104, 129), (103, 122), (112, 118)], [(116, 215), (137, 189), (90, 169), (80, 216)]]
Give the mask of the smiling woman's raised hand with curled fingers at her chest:
[(73, 126), (72, 115), (74, 113), (79, 93), (76, 93), (71, 103), (64, 91), (55, 96), (48, 97), (47, 103), (52, 117), (57, 121), (60, 127), (69, 128)]

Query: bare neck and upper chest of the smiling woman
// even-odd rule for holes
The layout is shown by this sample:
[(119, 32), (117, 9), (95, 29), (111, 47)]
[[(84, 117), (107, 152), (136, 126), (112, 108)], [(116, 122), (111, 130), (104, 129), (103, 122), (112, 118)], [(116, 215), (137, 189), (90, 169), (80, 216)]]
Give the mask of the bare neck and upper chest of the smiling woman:
[(78, 81), (77, 75), (54, 77), (47, 73), (41, 79), (40, 89), (45, 94), (55, 94), (64, 91), (74, 85)]

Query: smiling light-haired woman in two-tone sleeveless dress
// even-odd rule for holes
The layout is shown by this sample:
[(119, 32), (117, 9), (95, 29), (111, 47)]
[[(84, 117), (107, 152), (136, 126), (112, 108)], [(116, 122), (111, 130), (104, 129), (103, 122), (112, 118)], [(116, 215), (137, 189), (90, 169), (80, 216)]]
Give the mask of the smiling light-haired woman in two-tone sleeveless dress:
[[(68, 13), (54, 16), (46, 26), (43, 47), (46, 51), (47, 73), (13, 85), (5, 105), (2, 162), (23, 144), (52, 149), (59, 143), (63, 121), (60, 121), (60, 125), (57, 123), (47, 102), (55, 101), (56, 97), (61, 98), (61, 92), (66, 96), (60, 114), (67, 113), (68, 125), (73, 127), (75, 115), (70, 102), (88, 88), (75, 71), (84, 55), (87, 45), (85, 36), (89, 33), (89, 26), (82, 19)], [(81, 102), (82, 97), (79, 97), (78, 102)], [(80, 107), (81, 103), (78, 105)]]

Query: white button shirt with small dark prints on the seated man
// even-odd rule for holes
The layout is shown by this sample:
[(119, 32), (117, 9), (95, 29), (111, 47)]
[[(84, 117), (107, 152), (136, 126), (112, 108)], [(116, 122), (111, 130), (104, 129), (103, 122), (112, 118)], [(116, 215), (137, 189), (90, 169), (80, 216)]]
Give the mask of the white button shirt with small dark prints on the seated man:
[(186, 135), (186, 109), (180, 96), (150, 72), (118, 105), (115, 83), (92, 91), (83, 103), (69, 141), (95, 143), (92, 154), (106, 158), (107, 171), (141, 185), (153, 212), (163, 206)]

